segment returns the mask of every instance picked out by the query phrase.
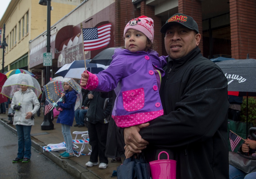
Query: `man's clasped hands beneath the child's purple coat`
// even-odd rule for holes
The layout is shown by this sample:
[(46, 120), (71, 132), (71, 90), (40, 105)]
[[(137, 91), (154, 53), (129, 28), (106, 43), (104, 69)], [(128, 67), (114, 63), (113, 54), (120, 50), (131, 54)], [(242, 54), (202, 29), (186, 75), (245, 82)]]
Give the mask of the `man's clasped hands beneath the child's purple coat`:
[(139, 134), (141, 128), (149, 126), (149, 123), (140, 124), (136, 126), (127, 127), (124, 129), (124, 143), (127, 146), (125, 148), (126, 158), (129, 158), (133, 153), (141, 153), (141, 150), (145, 149), (148, 142), (141, 138)]

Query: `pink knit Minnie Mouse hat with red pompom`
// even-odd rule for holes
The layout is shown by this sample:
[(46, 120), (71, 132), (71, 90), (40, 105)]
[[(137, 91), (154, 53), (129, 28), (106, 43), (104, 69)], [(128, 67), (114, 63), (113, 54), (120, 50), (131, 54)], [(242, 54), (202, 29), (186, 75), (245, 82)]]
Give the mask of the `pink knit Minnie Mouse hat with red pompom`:
[(124, 28), (124, 38), (125, 38), (125, 33), (129, 29), (134, 29), (144, 33), (144, 35), (153, 43), (153, 39), (154, 39), (153, 23), (154, 23), (153, 19), (147, 16), (140, 16), (136, 19), (132, 19)]

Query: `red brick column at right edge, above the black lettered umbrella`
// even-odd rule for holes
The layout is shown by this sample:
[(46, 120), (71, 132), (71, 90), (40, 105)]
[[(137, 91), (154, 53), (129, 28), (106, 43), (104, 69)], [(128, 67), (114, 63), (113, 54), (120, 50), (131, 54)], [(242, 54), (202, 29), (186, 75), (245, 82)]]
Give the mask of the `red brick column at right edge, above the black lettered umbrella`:
[(230, 0), (231, 55), (235, 59), (256, 59), (256, 2)]

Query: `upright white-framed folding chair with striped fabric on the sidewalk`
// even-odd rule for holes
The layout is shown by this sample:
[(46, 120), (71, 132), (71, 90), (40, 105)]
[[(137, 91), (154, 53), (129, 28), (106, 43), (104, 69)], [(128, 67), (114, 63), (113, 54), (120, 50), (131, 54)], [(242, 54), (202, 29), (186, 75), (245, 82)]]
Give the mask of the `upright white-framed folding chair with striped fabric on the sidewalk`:
[[(79, 157), (79, 156), (82, 154), (82, 152), (83, 152), (85, 146), (87, 146), (87, 148), (88, 148), (88, 150), (89, 150), (89, 153), (86, 154), (86, 155), (90, 155), (91, 152), (92, 152), (92, 150), (91, 150), (91, 147), (88, 146), (88, 145), (89, 145), (89, 135), (88, 135), (88, 131), (74, 131), (73, 134), (76, 135), (75, 139), (72, 140), (73, 143), (74, 143), (74, 144), (82, 144), (82, 147), (81, 147), (81, 149), (80, 149), (79, 152), (77, 152), (76, 150), (74, 150), (74, 151), (76, 151), (76, 152), (78, 153), (78, 154), (75, 154), (75, 153), (74, 153), (74, 155), (77, 156), (77, 157)], [(82, 139), (77, 139), (77, 136), (78, 136), (78, 135), (81, 135)], [(84, 154), (82, 154), (82, 155), (84, 155)]]

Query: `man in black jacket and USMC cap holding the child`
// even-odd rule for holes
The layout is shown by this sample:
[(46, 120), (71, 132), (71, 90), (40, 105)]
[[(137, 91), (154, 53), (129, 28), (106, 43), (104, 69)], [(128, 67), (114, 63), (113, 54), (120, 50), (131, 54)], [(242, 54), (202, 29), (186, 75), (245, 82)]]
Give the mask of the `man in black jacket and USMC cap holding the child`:
[(227, 179), (227, 79), (200, 53), (201, 35), (192, 17), (175, 14), (161, 32), (169, 55), (160, 88), (164, 116), (120, 129), (125, 155), (142, 152), (150, 162), (166, 151), (177, 161), (178, 179)]

